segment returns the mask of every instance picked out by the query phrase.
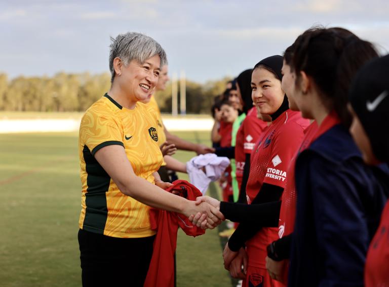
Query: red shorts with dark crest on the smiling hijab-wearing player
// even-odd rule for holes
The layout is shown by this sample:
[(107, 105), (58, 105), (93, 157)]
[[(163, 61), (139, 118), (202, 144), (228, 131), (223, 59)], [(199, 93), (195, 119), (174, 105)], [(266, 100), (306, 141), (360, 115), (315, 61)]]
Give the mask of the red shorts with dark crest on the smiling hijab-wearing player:
[(285, 285), (271, 279), (266, 269), (249, 265), (247, 266), (246, 279), (243, 280), (242, 287), (285, 287)]

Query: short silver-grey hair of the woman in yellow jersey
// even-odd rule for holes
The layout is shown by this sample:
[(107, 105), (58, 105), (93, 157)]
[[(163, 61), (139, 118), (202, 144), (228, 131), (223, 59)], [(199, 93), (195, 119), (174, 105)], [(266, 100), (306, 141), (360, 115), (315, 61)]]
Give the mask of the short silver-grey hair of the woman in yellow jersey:
[(161, 58), (160, 68), (167, 65), (165, 50), (153, 38), (141, 33), (127, 32), (111, 38), (109, 45), (109, 70), (111, 71), (111, 83), (115, 77), (113, 59), (120, 58), (127, 66), (132, 60), (143, 64), (147, 59), (158, 55)]

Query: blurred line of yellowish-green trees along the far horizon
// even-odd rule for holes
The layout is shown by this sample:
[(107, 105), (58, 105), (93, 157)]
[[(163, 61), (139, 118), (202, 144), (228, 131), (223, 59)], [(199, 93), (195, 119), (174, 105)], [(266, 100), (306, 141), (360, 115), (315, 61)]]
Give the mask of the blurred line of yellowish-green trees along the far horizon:
[[(210, 113), (214, 98), (223, 93), (229, 80), (209, 81), (202, 85), (186, 81), (186, 112)], [(0, 110), (3, 111), (85, 111), (110, 87), (110, 74), (57, 73), (53, 77), (8, 79), (0, 74)], [(178, 87), (178, 100), (180, 92)], [(172, 110), (172, 85), (155, 94), (162, 112)]]

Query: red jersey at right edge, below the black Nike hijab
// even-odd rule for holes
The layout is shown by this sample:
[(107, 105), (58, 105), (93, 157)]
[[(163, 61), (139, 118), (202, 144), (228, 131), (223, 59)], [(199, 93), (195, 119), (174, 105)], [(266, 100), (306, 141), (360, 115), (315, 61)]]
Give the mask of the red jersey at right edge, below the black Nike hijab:
[(370, 243), (365, 265), (366, 287), (389, 286), (389, 201), (383, 209), (381, 222)]

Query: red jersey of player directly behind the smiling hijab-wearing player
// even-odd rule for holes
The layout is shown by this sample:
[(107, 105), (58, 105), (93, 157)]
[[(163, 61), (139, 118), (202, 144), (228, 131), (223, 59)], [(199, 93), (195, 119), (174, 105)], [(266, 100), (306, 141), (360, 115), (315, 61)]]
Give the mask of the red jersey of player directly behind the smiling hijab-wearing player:
[(250, 109), (238, 130), (237, 144), (235, 146), (235, 162), (237, 165), (236, 175), (239, 189), (242, 184), (246, 154), (251, 154), (255, 143), (266, 128), (266, 122), (257, 118), (256, 108), (253, 107)]

